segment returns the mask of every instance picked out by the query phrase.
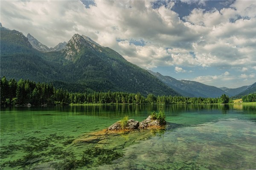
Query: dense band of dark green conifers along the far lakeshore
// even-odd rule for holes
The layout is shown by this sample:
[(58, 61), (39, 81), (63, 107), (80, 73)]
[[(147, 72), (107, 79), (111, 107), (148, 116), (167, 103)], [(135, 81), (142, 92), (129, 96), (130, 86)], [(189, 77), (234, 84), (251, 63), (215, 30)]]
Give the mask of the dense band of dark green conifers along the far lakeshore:
[(218, 98), (185, 96), (143, 96), (127, 92), (70, 93), (55, 88), (52, 83), (36, 83), (29, 80), (0, 79), (1, 105), (69, 105), (69, 104), (214, 104), (232, 102), (223, 94)]

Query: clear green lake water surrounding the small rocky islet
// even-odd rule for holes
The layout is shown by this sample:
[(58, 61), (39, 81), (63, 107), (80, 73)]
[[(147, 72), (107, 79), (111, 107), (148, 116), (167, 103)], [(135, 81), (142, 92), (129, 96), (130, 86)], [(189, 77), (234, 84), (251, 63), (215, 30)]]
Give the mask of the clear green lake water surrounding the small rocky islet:
[[(166, 129), (72, 144), (124, 115), (158, 105), (1, 108), (0, 168), (55, 170), (256, 169), (256, 105), (165, 105)], [(80, 136), (80, 137), (79, 137)]]

